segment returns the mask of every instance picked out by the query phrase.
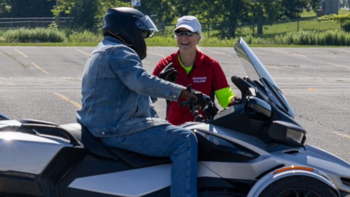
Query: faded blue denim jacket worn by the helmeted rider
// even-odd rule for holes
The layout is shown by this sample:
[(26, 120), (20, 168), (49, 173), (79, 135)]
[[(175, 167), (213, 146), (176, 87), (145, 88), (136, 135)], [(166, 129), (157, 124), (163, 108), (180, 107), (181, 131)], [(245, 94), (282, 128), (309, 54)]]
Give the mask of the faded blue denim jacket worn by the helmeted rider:
[(169, 124), (150, 97), (178, 100), (183, 86), (152, 76), (136, 52), (106, 36), (85, 64), (77, 120), (94, 136), (119, 136)]

